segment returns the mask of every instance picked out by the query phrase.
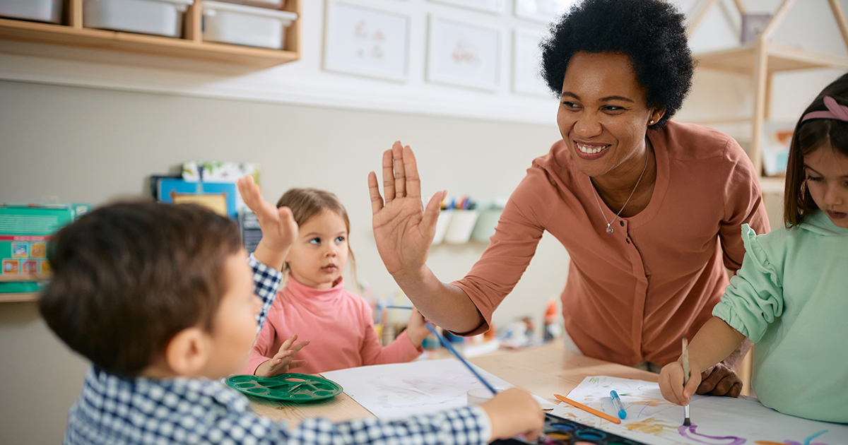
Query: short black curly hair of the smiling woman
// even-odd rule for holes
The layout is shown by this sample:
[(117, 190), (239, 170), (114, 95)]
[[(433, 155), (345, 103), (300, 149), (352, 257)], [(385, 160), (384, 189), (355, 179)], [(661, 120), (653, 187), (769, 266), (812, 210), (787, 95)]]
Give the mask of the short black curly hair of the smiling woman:
[(685, 16), (662, 0), (585, 0), (551, 25), (542, 48), (542, 77), (557, 96), (574, 53), (623, 53), (633, 63), (649, 108), (665, 108), (665, 125), (683, 105), (695, 62)]

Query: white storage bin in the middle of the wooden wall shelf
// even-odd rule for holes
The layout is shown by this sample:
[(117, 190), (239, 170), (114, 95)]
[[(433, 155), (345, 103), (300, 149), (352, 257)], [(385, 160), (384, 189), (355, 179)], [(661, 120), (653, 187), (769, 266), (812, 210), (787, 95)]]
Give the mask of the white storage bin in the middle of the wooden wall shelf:
[(82, 25), (157, 36), (182, 36), (182, 17), (194, 0), (83, 0)]

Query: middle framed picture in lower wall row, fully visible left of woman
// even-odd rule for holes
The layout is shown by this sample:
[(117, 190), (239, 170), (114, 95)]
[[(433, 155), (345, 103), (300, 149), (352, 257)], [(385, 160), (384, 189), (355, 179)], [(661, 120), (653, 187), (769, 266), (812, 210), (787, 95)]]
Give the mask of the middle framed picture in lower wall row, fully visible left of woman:
[(498, 87), (500, 30), (430, 16), (427, 81), (483, 90)]

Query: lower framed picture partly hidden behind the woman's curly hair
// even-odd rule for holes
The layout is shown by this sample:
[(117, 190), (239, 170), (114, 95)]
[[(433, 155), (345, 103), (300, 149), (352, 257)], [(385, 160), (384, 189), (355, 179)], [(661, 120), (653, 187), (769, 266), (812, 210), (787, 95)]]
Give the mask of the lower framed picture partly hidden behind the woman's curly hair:
[(551, 97), (548, 86), (544, 84), (539, 72), (542, 70), (542, 50), (538, 43), (543, 32), (516, 29), (512, 45), (512, 91)]

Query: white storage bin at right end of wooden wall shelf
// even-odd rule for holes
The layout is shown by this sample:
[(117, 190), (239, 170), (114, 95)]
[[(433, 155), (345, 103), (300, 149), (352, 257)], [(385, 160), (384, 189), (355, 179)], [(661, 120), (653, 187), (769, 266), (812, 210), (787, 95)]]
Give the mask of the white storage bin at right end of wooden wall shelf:
[(204, 1), (204, 40), (282, 49), (285, 29), (298, 14)]

